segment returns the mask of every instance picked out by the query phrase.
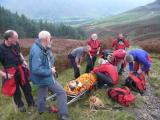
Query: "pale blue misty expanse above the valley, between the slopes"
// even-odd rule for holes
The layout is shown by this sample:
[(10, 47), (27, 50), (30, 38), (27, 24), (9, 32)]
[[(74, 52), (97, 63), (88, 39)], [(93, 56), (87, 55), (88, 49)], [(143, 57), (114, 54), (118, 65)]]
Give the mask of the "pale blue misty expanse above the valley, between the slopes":
[(115, 15), (152, 1), (153, 0), (0, 0), (0, 4), (13, 12), (17, 11), (33, 19), (64, 22), (74, 25), (88, 24), (95, 19)]

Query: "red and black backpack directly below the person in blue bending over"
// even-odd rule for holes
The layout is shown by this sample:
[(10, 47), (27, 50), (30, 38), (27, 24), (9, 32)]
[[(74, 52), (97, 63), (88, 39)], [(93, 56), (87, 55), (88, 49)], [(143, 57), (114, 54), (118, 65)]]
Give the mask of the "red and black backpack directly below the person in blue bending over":
[(140, 94), (143, 94), (146, 90), (146, 80), (142, 73), (129, 73), (129, 76), (125, 80), (125, 85)]

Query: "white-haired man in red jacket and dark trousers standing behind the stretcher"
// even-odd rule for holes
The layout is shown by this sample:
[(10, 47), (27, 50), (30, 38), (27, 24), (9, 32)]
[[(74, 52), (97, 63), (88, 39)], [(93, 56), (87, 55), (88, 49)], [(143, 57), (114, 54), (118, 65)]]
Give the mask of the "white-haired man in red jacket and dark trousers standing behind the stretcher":
[(98, 39), (98, 35), (96, 33), (93, 33), (91, 35), (91, 38), (87, 41), (87, 45), (91, 47), (90, 54), (87, 55), (87, 66), (86, 66), (86, 73), (89, 73), (91, 70), (93, 70), (93, 67), (95, 65), (97, 55), (100, 51), (100, 40)]

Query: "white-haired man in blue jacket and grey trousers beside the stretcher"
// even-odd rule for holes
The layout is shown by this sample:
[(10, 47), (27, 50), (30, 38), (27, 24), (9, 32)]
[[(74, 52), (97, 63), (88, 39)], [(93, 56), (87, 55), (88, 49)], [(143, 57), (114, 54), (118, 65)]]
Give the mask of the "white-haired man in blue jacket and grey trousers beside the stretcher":
[(67, 109), (67, 95), (63, 87), (54, 78), (56, 72), (52, 57), (48, 51), (51, 46), (51, 34), (41, 31), (38, 39), (30, 50), (30, 76), (33, 84), (38, 86), (38, 111), (40, 114), (47, 110), (46, 97), (48, 89), (56, 93), (60, 120), (70, 120)]

